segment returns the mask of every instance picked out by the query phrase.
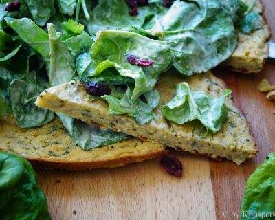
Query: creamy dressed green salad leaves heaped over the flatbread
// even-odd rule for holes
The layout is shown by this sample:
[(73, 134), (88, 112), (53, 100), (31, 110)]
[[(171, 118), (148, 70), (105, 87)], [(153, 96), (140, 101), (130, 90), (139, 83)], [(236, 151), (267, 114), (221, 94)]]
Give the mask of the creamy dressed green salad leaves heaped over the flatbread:
[[(48, 87), (83, 80), (87, 96), (106, 101), (110, 114), (126, 114), (140, 124), (157, 120), (160, 74), (173, 66), (190, 76), (225, 61), (238, 43), (236, 28), (244, 33), (261, 28), (253, 4), (1, 0), (0, 116), (13, 113), (22, 128), (47, 124), (55, 114), (36, 107), (36, 97)], [(228, 94), (212, 99), (181, 83), (162, 113), (177, 124), (199, 120), (216, 133), (228, 118)], [(58, 118), (85, 150), (130, 138), (60, 113)]]

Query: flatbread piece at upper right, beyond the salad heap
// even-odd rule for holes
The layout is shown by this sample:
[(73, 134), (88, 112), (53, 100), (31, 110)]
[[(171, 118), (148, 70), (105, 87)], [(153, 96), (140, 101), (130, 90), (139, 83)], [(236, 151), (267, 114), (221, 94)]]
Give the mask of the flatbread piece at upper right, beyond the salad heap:
[[(243, 0), (243, 2), (251, 6), (254, 0)], [(263, 3), (260, 0), (256, 0), (252, 11), (261, 15), (262, 28), (254, 30), (250, 34), (244, 34), (237, 30), (239, 43), (236, 50), (228, 60), (222, 63), (224, 67), (245, 74), (260, 72), (270, 51), (267, 42), (271, 37), (271, 32), (263, 14)]]

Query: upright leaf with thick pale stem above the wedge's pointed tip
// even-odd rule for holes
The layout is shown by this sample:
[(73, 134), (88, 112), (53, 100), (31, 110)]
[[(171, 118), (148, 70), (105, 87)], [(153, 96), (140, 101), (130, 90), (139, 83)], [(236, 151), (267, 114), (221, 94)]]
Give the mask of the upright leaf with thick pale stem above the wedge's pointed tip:
[(47, 24), (50, 39), (50, 84), (61, 85), (69, 82), (76, 76), (74, 57), (69, 53), (67, 46), (61, 40), (61, 33), (56, 32), (52, 23)]

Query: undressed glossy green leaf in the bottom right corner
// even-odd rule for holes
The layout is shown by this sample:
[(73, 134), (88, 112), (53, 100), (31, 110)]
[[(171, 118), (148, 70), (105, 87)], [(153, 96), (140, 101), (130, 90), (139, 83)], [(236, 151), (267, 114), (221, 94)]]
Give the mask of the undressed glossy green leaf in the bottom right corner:
[[(241, 203), (240, 219), (274, 219), (275, 152), (249, 177)], [(259, 215), (257, 215), (259, 214)], [(272, 215), (273, 214), (273, 215)]]

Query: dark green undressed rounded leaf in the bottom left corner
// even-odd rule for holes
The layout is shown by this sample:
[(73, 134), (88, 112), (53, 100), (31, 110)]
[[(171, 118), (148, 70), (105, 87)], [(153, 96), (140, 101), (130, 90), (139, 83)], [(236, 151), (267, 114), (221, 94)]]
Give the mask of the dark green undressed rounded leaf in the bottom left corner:
[(27, 159), (0, 152), (1, 219), (51, 219), (46, 197)]

